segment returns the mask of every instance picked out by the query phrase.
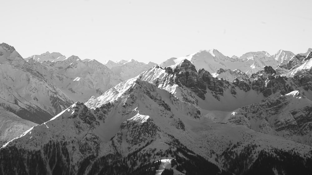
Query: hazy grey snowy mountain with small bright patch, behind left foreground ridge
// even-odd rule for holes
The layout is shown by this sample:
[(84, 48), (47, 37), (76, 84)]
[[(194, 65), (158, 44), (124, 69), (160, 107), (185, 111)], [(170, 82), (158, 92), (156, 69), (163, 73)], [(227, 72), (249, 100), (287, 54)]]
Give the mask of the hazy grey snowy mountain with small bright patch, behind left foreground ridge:
[(100, 62), (82, 61), (76, 56), (58, 62), (37, 62), (32, 58), (27, 62), (73, 101), (85, 102), (122, 81)]

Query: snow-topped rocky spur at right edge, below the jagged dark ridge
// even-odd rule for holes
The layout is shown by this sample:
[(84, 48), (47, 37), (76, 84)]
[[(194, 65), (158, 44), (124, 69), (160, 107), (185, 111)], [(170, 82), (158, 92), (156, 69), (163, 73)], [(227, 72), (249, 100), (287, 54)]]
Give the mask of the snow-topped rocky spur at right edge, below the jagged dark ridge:
[(312, 132), (312, 102), (303, 92), (292, 95), (294, 92), (281, 97), (268, 97), (260, 103), (241, 107), (227, 121), (266, 134), (290, 137), (294, 141), (299, 141), (297, 138), (300, 137), (300, 142), (311, 145), (312, 139), (307, 135)]

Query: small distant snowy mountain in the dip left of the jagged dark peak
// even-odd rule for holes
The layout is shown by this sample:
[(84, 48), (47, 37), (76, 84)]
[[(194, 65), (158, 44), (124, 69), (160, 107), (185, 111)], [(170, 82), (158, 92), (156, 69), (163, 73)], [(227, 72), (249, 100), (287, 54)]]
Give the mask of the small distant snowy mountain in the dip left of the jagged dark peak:
[(113, 62), (111, 60), (104, 63), (105, 66), (109, 67), (116, 75), (120, 76), (122, 80), (128, 80), (138, 76), (141, 72), (146, 69), (153, 67), (156, 63), (149, 62), (145, 64), (143, 62), (135, 61), (130, 59), (129, 61), (120, 60), (118, 62)]

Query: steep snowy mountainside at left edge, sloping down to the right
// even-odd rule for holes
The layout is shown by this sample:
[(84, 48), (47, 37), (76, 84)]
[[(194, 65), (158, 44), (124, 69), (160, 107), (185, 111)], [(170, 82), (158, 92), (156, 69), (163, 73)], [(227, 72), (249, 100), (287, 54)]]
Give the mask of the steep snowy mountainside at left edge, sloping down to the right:
[(36, 123), (49, 120), (73, 101), (8, 44), (0, 44), (0, 108)]

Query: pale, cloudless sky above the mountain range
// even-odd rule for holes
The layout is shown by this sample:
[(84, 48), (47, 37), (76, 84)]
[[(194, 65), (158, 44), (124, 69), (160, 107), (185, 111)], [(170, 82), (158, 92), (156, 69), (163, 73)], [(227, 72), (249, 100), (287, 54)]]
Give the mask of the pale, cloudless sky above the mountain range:
[(27, 58), (160, 63), (198, 50), (226, 56), (312, 48), (311, 0), (2, 0), (0, 43)]

